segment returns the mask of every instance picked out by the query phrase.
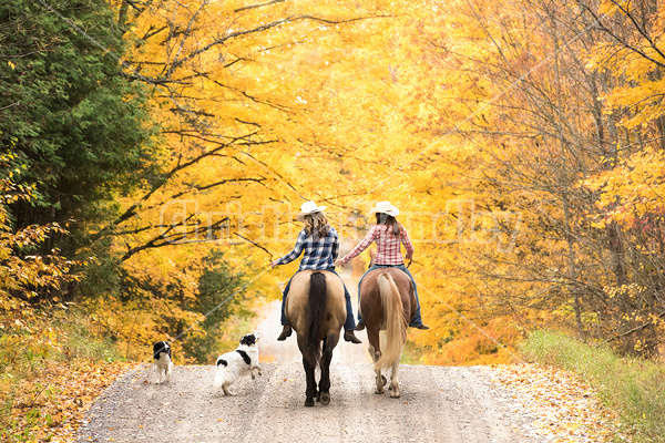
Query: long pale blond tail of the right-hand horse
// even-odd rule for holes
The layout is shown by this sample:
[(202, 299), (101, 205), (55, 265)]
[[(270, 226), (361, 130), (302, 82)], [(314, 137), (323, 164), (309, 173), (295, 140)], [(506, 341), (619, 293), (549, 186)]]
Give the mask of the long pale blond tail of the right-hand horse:
[(386, 319), (386, 346), (381, 350), (381, 357), (375, 363), (375, 369), (390, 368), (401, 357), (402, 348), (407, 341), (405, 308), (392, 276), (383, 272), (377, 279), (377, 284), (381, 295), (381, 305), (383, 306), (383, 318)]

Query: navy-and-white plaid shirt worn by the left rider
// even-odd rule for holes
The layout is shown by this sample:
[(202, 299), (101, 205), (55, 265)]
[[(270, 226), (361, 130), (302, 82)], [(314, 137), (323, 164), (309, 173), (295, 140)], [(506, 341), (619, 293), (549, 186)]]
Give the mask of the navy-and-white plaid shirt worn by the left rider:
[(337, 230), (335, 230), (334, 227), (330, 227), (327, 237), (319, 237), (319, 239), (315, 241), (314, 236), (308, 235), (305, 229), (303, 229), (300, 234), (298, 234), (294, 250), (279, 258), (277, 265), (286, 265), (294, 261), (303, 254), (303, 251), (305, 251), (305, 255), (300, 260), (298, 270), (335, 268), (335, 260), (339, 253)]

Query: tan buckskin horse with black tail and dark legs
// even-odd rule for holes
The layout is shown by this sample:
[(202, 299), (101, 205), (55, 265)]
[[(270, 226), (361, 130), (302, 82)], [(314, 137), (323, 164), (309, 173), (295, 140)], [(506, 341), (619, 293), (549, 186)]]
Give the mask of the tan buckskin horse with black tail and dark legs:
[[(332, 272), (303, 270), (296, 274), (286, 296), (286, 318), (298, 334), (303, 367), (307, 378), (305, 405), (330, 403), (330, 360), (346, 320), (344, 284)], [(323, 342), (323, 352), (321, 352)], [(319, 365), (321, 378), (316, 385), (314, 371)]]

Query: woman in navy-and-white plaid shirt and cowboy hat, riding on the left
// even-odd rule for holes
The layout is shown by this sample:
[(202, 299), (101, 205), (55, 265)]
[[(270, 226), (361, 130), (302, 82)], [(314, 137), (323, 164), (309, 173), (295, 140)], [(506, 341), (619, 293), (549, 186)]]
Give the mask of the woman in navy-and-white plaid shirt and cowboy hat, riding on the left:
[[(298, 214), (298, 219), (305, 222), (305, 228), (298, 235), (294, 249), (284, 257), (270, 262), (273, 268), (278, 265), (291, 262), (298, 258), (300, 254), (305, 253), (300, 260), (299, 271), (304, 269), (319, 269), (337, 275), (335, 271), (335, 260), (339, 253), (339, 238), (337, 236), (337, 230), (328, 225), (328, 220), (323, 213), (325, 208), (326, 206), (317, 206), (314, 202), (306, 202), (303, 204), (300, 208), (301, 213)], [(284, 329), (277, 338), (279, 341), (286, 340), (286, 338), (291, 334), (291, 327), (284, 315), (284, 303), (290, 288), (290, 282), (291, 280), (288, 280), (288, 284), (284, 288), (284, 297), (282, 298), (282, 324), (284, 326)], [(341, 284), (344, 285), (344, 281)], [(344, 339), (351, 343), (360, 343), (360, 340), (358, 340), (354, 333), (356, 322), (354, 321), (354, 311), (351, 309), (351, 296), (349, 295), (346, 285), (344, 286), (344, 296), (347, 306)]]

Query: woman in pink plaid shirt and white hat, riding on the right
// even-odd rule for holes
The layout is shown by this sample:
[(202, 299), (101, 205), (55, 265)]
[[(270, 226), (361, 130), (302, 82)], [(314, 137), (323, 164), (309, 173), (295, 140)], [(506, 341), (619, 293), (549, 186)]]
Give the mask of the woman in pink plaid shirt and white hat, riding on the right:
[[(400, 246), (405, 245), (405, 249), (407, 250), (407, 260), (410, 260), (413, 257), (413, 245), (411, 245), (411, 240), (409, 239), (409, 234), (407, 234), (407, 229), (397, 223), (397, 217), (399, 215), (399, 210), (390, 204), (390, 202), (379, 202), (377, 206), (372, 209), (372, 213), (377, 216), (377, 224), (369, 230), (367, 236), (360, 241), (349, 254), (344, 256), (344, 258), (337, 260), (336, 266), (344, 266), (347, 261), (352, 259), (362, 253), (369, 245), (372, 243), (377, 244), (377, 254), (374, 257), (372, 266), (367, 270), (367, 272), (378, 269), (378, 268), (398, 268), (405, 271), (409, 278), (411, 278), (411, 282), (413, 284), (413, 292), (416, 295), (416, 315), (413, 319), (409, 323), (411, 328), (418, 329), (429, 329), (427, 326), (422, 324), (422, 318), (420, 317), (420, 301), (418, 300), (418, 289), (416, 288), (416, 280), (413, 280), (413, 276), (409, 272), (409, 269), (405, 266), (405, 259), (401, 255)], [(360, 300), (360, 284), (365, 276), (360, 278), (358, 282), (358, 300)], [(360, 317), (360, 311), (358, 310), (358, 327), (356, 330), (360, 331), (365, 328), (365, 323), (362, 322), (362, 317)]]

